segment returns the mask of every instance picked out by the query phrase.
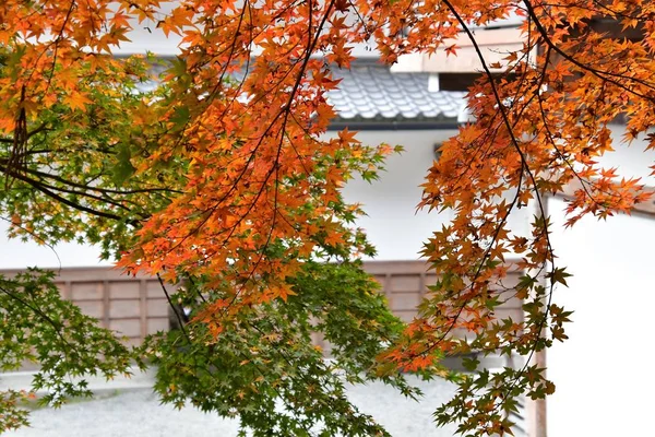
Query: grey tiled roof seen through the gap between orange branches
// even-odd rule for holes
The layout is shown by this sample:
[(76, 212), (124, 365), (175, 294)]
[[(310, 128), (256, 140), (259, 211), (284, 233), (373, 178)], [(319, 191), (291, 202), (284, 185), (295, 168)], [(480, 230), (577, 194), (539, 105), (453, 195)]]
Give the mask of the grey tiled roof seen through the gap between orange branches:
[(341, 121), (456, 121), (462, 91), (428, 87), (428, 73), (392, 73), (385, 66), (354, 64), (338, 70), (338, 90), (327, 95)]

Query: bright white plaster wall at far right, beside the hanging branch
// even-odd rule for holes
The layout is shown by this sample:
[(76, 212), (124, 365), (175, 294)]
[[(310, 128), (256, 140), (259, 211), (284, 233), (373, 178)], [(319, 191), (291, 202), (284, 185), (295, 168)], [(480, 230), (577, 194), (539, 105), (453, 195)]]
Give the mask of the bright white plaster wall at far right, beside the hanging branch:
[[(612, 132), (617, 151), (602, 162), (655, 186), (647, 168), (655, 153), (639, 141), (620, 144), (618, 126)], [(655, 217), (585, 217), (564, 229), (564, 206), (549, 201), (552, 239), (558, 263), (574, 276), (555, 300), (575, 312), (570, 339), (548, 351), (548, 375), (557, 386), (548, 400), (548, 435), (651, 436)]]

